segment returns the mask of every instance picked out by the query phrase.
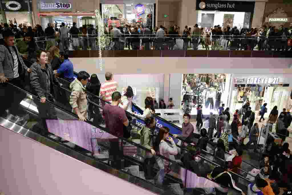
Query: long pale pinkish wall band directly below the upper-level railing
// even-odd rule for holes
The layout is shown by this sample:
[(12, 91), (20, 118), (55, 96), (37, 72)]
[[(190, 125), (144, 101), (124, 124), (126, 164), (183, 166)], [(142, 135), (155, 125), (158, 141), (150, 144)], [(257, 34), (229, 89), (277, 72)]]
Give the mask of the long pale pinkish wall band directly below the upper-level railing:
[[(291, 74), (292, 58), (103, 58), (105, 71), (115, 74), (234, 73)], [(70, 58), (74, 70), (100, 73), (98, 58)]]

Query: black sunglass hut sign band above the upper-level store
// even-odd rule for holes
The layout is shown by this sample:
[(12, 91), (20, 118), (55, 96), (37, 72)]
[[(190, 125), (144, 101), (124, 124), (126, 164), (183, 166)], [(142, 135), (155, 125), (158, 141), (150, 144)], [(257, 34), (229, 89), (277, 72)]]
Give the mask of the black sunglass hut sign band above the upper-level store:
[(197, 0), (196, 10), (253, 13), (255, 2)]

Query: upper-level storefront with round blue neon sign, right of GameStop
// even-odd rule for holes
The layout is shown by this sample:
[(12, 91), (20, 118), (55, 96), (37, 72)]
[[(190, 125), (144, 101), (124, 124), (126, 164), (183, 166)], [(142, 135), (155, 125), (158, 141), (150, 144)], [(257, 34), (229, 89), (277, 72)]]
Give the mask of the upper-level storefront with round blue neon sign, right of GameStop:
[(102, 4), (102, 17), (108, 26), (149, 25), (153, 28), (154, 4)]

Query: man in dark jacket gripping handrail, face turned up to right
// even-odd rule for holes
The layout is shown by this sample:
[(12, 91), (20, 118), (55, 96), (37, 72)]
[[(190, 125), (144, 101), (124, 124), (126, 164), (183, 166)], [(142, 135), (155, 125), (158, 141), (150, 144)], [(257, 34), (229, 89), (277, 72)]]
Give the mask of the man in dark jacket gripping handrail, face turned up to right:
[(46, 119), (58, 119), (54, 106), (46, 103), (47, 100), (54, 102), (54, 87), (53, 83), (61, 86), (59, 81), (53, 75), (51, 64), (48, 63), (48, 56), (46, 51), (38, 51), (37, 62), (31, 65), (30, 84), (33, 93), (39, 97), (34, 98), (37, 109), (39, 111), (39, 117), (41, 119), (41, 125), (44, 127), (42, 134), (46, 133), (45, 120)]

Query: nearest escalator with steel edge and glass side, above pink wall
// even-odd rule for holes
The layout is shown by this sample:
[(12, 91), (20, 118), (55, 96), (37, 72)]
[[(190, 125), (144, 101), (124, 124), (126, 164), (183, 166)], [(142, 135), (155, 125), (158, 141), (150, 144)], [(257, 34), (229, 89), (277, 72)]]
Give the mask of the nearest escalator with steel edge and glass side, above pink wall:
[[(183, 194), (184, 192), (189, 192), (190, 189), (183, 187), (187, 186), (188, 182), (185, 178), (191, 177), (193, 179), (198, 179), (195, 173), (190, 170), (186, 171), (180, 161), (159, 156), (174, 165), (172, 171), (166, 174), (165, 186), (167, 187), (159, 187), (154, 184), (154, 180), (145, 179), (142, 164), (143, 159), (139, 156), (142, 150), (146, 150), (145, 148), (135, 142), (128, 141), (124, 138), (118, 138), (121, 140), (118, 146), (121, 153), (95, 153), (96, 150), (100, 149), (103, 149), (103, 151), (111, 151), (113, 147), (109, 144), (109, 139), (113, 138), (113, 136), (109, 134), (104, 127), (94, 125), (91, 121), (79, 121), (77, 115), (49, 101), (46, 101), (44, 104), (53, 106), (58, 119), (46, 119), (44, 121), (39, 117), (38, 110), (34, 104), (34, 101), (40, 101), (38, 97), (12, 84), (8, 83), (7, 85), (11, 85), (10, 87), (13, 87), (13, 90), (17, 91), (18, 94), (27, 96), (27, 98), (20, 103), (19, 110), (25, 111), (28, 115), (28, 119), (25, 121), (18, 121), (8, 114), (1, 118), (0, 124), (2, 127), (6, 127), (25, 137), (34, 139), (72, 158), (104, 170), (109, 174), (152, 191), (155, 194)], [(3, 85), (0, 87), (3, 88)], [(44, 134), (44, 131), (47, 133)], [(115, 155), (117, 155), (117, 158), (115, 158)], [(204, 163), (208, 164), (211, 168), (216, 166), (215, 163), (209, 161), (207, 158), (203, 156), (201, 156), (201, 158), (204, 160)], [(118, 161), (120, 166), (117, 167), (117, 163), (114, 161)], [(156, 175), (157, 171), (158, 168), (154, 166), (152, 175)], [(218, 185), (206, 178), (201, 179), (209, 181), (209, 183), (211, 182), (213, 185)], [(249, 181), (245, 180), (240, 182), (242, 186), (247, 186)], [(204, 189), (192, 187), (191, 193), (207, 194), (206, 189), (208, 188), (211, 187), (204, 187)], [(230, 189), (230, 191), (232, 190), (233, 189)], [(237, 192), (234, 191), (232, 194), (237, 194)]]

